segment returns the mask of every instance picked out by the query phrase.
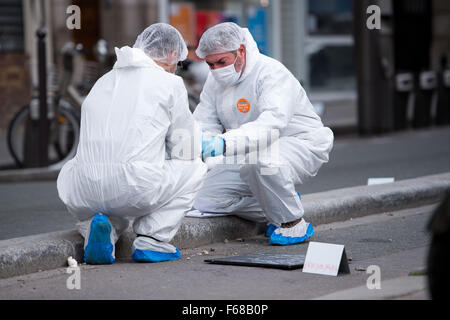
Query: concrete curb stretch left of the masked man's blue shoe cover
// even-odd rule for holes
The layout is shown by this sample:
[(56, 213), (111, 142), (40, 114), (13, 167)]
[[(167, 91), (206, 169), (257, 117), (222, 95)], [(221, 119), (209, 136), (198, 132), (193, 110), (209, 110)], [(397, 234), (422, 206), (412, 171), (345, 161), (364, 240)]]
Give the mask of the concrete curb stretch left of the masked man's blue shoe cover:
[[(265, 224), (237, 217), (185, 218), (171, 243), (180, 249), (251, 237), (262, 233)], [(135, 234), (129, 228), (116, 244), (117, 258), (131, 257)], [(67, 266), (72, 256), (83, 261), (84, 239), (77, 230), (50, 232), (0, 241), (0, 279)]]

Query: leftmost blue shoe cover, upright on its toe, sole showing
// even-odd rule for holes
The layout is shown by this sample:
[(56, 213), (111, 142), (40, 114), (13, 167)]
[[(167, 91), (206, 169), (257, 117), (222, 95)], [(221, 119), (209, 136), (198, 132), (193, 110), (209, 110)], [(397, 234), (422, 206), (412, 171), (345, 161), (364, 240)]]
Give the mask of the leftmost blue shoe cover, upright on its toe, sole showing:
[(84, 261), (87, 264), (111, 264), (114, 262), (111, 231), (111, 224), (105, 215), (97, 214), (92, 218), (88, 244), (84, 248)]

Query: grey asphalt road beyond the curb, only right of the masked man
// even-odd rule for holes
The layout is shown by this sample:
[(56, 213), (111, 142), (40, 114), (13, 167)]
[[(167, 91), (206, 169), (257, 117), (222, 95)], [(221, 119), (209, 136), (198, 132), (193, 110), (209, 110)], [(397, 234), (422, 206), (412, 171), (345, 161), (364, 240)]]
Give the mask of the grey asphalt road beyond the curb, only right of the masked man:
[(416, 178), (450, 171), (450, 127), (373, 138), (337, 138), (330, 161), (299, 187), (313, 193), (366, 185), (368, 178)]

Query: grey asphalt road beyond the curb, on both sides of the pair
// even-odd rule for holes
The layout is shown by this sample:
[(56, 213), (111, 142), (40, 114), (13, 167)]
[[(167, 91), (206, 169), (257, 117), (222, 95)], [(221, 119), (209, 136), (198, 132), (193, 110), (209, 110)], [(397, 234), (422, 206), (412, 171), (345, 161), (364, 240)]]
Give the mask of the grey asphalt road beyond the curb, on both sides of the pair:
[[(373, 138), (337, 138), (330, 161), (298, 187), (302, 194), (450, 172), (450, 127)], [(0, 240), (74, 228), (54, 181), (0, 183)]]

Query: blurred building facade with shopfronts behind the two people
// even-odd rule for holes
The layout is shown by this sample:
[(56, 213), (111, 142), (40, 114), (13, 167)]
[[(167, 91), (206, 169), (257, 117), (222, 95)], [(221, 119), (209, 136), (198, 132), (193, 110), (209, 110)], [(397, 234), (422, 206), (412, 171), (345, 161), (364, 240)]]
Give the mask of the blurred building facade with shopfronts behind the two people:
[[(385, 7), (391, 1), (372, 2)], [(450, 57), (450, 2), (429, 2), (429, 62), (430, 68), (438, 68), (443, 54)], [(80, 30), (66, 26), (70, 5), (81, 9)], [(392, 5), (388, 7), (392, 11)], [(189, 57), (195, 59), (193, 51), (202, 32), (214, 24), (233, 21), (248, 27), (261, 52), (282, 61), (312, 100), (342, 100), (345, 105), (353, 103), (351, 112), (356, 112), (354, 20), (352, 0), (2, 0), (0, 101), (4, 102), (0, 105), (0, 127), (4, 128), (15, 110), (26, 104), (37, 82), (35, 31), (39, 25), (48, 30), (49, 70), (60, 69), (59, 52), (65, 43), (83, 44), (82, 67), (75, 75), (81, 81), (89, 63), (95, 65), (93, 47), (99, 39), (105, 39), (110, 49), (132, 46), (145, 27), (168, 22), (183, 34), (191, 49)], [(336, 114), (345, 113), (340, 110), (336, 109)], [(356, 114), (351, 116), (356, 119)]]

